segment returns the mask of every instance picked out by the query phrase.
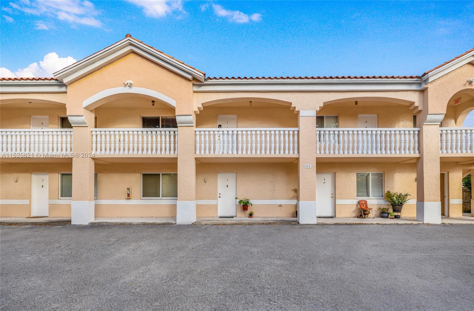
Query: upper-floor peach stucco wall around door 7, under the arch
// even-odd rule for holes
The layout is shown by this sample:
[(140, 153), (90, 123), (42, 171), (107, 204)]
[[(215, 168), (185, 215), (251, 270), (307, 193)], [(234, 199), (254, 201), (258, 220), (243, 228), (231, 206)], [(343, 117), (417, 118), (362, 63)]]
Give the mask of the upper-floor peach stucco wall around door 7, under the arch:
[(197, 128), (217, 128), (217, 116), (237, 115), (238, 128), (297, 128), (298, 115), (289, 106), (276, 105), (271, 108), (252, 107), (212, 107), (206, 106), (196, 115)]

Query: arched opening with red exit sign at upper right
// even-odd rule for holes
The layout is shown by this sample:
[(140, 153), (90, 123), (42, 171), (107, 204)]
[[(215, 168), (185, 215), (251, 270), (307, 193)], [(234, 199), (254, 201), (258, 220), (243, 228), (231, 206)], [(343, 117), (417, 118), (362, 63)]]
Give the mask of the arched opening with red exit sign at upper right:
[(444, 128), (463, 127), (466, 117), (474, 110), (474, 89), (456, 92), (447, 102), (446, 114), (441, 122)]

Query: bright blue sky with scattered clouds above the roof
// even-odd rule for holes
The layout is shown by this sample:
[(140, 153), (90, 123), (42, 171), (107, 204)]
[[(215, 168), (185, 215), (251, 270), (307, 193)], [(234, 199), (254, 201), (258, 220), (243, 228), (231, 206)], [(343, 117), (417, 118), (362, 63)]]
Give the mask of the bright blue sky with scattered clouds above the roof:
[(474, 46), (472, 1), (0, 1), (1, 74), (130, 33), (208, 76), (417, 75)]

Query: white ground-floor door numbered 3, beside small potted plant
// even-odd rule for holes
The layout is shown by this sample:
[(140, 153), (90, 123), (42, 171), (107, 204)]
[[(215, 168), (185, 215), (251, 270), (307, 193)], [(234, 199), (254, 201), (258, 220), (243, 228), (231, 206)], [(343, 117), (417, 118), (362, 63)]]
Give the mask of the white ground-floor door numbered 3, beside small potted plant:
[(237, 216), (237, 174), (217, 174), (217, 215)]

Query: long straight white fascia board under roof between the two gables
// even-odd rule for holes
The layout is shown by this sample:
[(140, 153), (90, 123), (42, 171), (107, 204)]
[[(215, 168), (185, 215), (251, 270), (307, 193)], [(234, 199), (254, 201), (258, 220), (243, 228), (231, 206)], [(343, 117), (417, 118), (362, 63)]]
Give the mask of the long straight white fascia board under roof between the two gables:
[(419, 91), (418, 79), (409, 81), (231, 81), (193, 83), (195, 92), (232, 91)]

